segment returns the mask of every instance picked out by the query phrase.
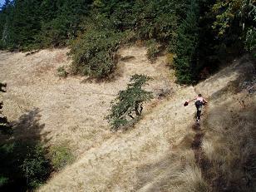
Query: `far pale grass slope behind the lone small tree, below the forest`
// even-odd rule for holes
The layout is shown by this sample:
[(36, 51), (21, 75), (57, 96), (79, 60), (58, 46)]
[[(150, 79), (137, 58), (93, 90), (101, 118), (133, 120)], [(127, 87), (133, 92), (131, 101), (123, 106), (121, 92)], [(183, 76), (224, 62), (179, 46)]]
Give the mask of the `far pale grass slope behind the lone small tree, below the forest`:
[(104, 117), (131, 75), (137, 72), (154, 77), (148, 89), (156, 98), (161, 89), (172, 91), (165, 57), (151, 64), (145, 47), (121, 49), (116, 80), (107, 82), (85, 81), (77, 76), (60, 79), (57, 67), (71, 62), (66, 52), (42, 50), (27, 57), (24, 53), (1, 52), (0, 81), (7, 82), (7, 93), (1, 100), (4, 114), (16, 126), (15, 138), (45, 140), (48, 145), (69, 142), (79, 156), (113, 135)]

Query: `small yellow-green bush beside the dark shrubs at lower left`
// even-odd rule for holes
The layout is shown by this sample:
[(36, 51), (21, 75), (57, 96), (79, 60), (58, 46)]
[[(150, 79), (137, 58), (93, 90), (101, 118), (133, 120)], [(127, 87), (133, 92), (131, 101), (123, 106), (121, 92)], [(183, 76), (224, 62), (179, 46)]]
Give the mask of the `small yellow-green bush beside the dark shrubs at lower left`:
[(62, 170), (66, 165), (71, 164), (75, 160), (71, 150), (65, 144), (53, 146), (50, 150), (50, 158), (52, 168), (57, 171)]

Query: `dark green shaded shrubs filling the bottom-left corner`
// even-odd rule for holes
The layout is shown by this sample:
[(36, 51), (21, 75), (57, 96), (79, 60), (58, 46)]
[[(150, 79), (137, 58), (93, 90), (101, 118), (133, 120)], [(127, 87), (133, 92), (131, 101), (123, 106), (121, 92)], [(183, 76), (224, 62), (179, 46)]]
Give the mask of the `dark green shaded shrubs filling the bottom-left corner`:
[(46, 150), (40, 144), (16, 141), (0, 145), (0, 152), (3, 191), (32, 190), (42, 185), (51, 173)]

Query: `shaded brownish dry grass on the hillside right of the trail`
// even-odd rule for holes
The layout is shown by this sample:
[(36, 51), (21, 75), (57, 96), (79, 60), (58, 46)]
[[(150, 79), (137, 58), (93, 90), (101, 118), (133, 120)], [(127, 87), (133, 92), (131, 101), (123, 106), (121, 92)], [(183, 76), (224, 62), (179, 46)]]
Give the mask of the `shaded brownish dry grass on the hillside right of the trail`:
[[(212, 93), (203, 123), (207, 132), (202, 150), (209, 164), (205, 179), (210, 191), (255, 189), (256, 96), (241, 89), (246, 79), (255, 76), (255, 71), (254, 63), (245, 61), (242, 58), (225, 69), (226, 76), (233, 73), (237, 77), (228, 83), (224, 81), (225, 86)], [(202, 82), (197, 88), (200, 86), (206, 85)]]

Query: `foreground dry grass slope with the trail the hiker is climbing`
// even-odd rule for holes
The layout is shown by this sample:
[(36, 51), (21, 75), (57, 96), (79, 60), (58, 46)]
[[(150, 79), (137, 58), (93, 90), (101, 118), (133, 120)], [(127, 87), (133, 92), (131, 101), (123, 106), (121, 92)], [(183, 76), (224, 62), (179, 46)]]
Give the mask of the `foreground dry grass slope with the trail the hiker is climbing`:
[[(211, 150), (205, 144), (213, 141), (211, 140), (213, 135), (214, 138), (218, 137), (214, 130), (224, 130), (232, 121), (232, 116), (228, 116), (226, 111), (239, 107), (239, 100), (247, 96), (246, 103), (249, 107), (244, 112), (244, 115), (247, 113), (247, 119), (244, 121), (250, 126), (246, 128), (245, 133), (251, 136), (250, 143), (246, 147), (250, 147), (249, 155), (254, 155), (255, 132), (252, 127), (255, 126), (256, 98), (255, 95), (248, 96), (246, 91), (239, 89), (239, 83), (244, 81), (244, 74), (251, 73), (253, 68), (254, 63), (246, 61), (244, 57), (208, 80), (199, 83), (198, 86), (189, 86), (176, 91), (169, 101), (161, 103), (160, 106), (154, 108), (154, 111), (145, 114), (135, 129), (127, 133), (116, 134), (102, 145), (86, 151), (80, 160), (53, 177), (47, 185), (42, 187), (41, 191), (219, 191), (236, 189), (235, 186), (232, 188), (229, 184), (235, 168), (227, 166), (227, 170), (224, 171), (229, 178), (222, 178), (218, 163), (215, 163), (218, 162), (218, 158), (213, 162), (208, 160), (208, 155), (213, 157), (214, 152), (216, 156), (219, 155), (214, 145), (219, 145), (223, 149), (221, 151), (225, 151), (224, 147), (228, 146), (225, 142), (229, 143), (229, 138), (221, 138), (222, 144), (210, 145)], [(230, 86), (231, 84), (234, 85)], [(237, 92), (232, 89), (236, 89)], [(208, 112), (204, 111), (201, 126), (194, 125), (194, 106), (186, 108), (182, 106), (186, 99), (195, 96), (195, 91), (202, 92), (209, 99), (209, 106), (206, 107)], [(231, 96), (234, 96), (237, 101), (233, 101), (234, 105), (229, 106), (229, 101), (234, 100)], [(219, 106), (225, 107), (226, 111), (222, 108), (222, 111), (217, 110), (216, 114), (216, 108)], [(236, 111), (233, 112), (238, 114)], [(238, 133), (233, 133), (233, 135), (236, 134)], [(248, 136), (243, 135), (243, 131), (238, 135), (235, 138), (243, 136), (244, 141)], [(214, 141), (218, 142), (217, 139)], [(236, 146), (243, 148), (239, 144)], [(232, 151), (232, 149), (229, 150)], [(234, 147), (233, 150), (235, 153), (238, 149)], [(219, 156), (221, 157), (224, 158), (222, 160), (226, 158), (224, 154)], [(239, 158), (246, 157), (240, 154), (236, 159), (227, 159), (227, 164), (239, 162)], [(214, 163), (217, 164), (216, 169), (209, 169)], [(234, 170), (229, 170), (231, 168)], [(209, 169), (209, 173), (206, 169)], [(235, 180), (244, 180), (244, 175), (248, 175), (248, 172), (243, 170), (243, 166), (240, 170), (239, 179), (236, 177)], [(226, 180), (225, 185), (225, 181), (221, 181), (224, 179), (229, 179)], [(254, 180), (250, 180), (250, 184), (244, 189), (252, 190)]]

